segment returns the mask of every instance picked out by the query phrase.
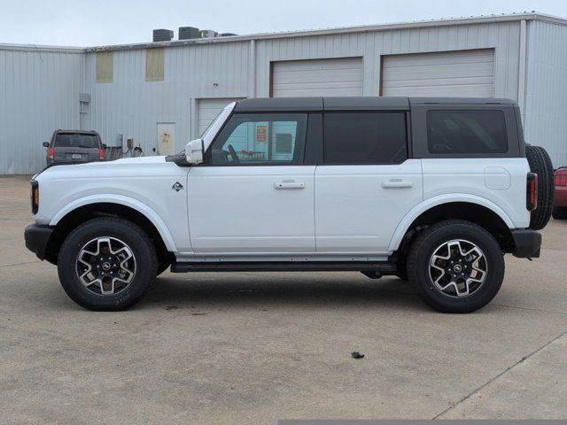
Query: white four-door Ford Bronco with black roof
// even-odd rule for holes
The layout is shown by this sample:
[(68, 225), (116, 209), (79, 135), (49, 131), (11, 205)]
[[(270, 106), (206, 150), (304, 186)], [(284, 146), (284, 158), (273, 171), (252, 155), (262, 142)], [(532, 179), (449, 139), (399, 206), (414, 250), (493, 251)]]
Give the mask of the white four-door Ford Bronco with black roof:
[(302, 97), (226, 106), (170, 157), (48, 166), (27, 248), (92, 310), (179, 272), (359, 271), (440, 312), (486, 305), (540, 255), (553, 167), (514, 101)]

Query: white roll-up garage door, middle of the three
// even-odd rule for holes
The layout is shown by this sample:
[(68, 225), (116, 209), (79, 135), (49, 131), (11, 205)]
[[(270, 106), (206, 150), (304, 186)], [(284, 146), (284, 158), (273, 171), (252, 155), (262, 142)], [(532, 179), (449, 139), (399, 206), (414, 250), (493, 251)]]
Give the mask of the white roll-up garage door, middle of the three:
[(272, 97), (361, 96), (362, 58), (274, 62)]

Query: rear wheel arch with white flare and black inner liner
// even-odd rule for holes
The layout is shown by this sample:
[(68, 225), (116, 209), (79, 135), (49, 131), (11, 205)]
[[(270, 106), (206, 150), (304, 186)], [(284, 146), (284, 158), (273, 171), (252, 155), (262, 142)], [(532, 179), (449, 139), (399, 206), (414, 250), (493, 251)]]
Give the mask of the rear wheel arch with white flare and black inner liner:
[(389, 251), (405, 251), (416, 232), (442, 220), (467, 220), (491, 233), (501, 245), (502, 251), (512, 251), (514, 240), (510, 228), (513, 221), (498, 205), (482, 197), (432, 198), (417, 205), (398, 225)]

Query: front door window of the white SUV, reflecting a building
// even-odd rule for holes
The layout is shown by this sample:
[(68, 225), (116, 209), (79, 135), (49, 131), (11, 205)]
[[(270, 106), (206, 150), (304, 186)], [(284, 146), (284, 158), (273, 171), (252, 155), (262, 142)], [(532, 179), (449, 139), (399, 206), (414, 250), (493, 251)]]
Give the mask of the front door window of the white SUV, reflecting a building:
[(214, 140), (212, 164), (303, 160), (306, 113), (237, 113)]

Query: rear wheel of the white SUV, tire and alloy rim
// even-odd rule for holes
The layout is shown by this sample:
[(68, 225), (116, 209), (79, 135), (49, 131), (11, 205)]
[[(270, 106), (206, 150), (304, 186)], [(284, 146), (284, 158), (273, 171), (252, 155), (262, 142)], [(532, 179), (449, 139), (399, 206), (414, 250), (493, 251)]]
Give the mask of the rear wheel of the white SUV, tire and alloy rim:
[(441, 313), (470, 313), (488, 304), (504, 279), (500, 245), (484, 228), (447, 220), (424, 229), (408, 253), (408, 279)]

